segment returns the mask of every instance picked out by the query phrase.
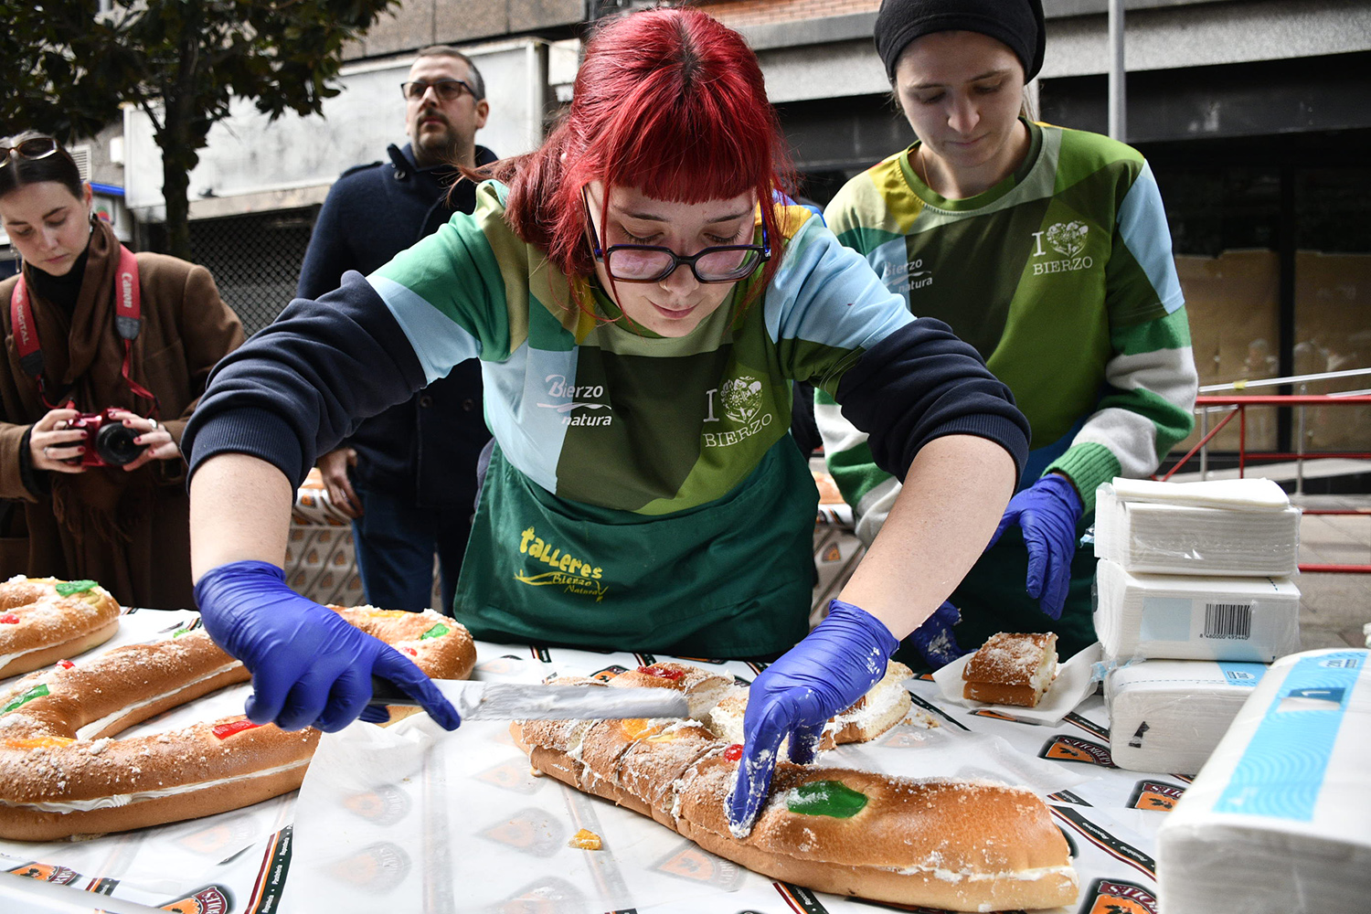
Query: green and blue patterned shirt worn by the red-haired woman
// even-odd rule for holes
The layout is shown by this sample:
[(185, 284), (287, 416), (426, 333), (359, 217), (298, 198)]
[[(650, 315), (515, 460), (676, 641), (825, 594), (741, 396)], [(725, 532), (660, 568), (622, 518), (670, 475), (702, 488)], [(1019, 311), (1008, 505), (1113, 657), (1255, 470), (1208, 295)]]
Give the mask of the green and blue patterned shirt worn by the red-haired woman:
[(599, 314), (587, 315), (543, 249), (509, 227), (506, 193), (483, 184), (472, 215), (367, 281), (429, 381), (481, 359), (505, 458), (572, 502), (661, 515), (724, 496), (787, 434), (791, 380), (836, 395), (865, 349), (913, 321), (802, 207), (779, 210), (784, 259), (749, 307), (742, 282), (681, 338), (616, 321), (598, 289)]

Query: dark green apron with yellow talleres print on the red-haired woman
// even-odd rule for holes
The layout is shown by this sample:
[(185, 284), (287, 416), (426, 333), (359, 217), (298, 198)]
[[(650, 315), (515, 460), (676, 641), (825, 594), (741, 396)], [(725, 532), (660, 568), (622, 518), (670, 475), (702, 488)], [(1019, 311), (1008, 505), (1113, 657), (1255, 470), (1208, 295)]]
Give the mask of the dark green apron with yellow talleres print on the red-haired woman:
[[(606, 467), (605, 485), (613, 485)], [(775, 654), (809, 632), (818, 493), (790, 436), (721, 499), (642, 515), (559, 499), (496, 447), (454, 615), (487, 641)]]

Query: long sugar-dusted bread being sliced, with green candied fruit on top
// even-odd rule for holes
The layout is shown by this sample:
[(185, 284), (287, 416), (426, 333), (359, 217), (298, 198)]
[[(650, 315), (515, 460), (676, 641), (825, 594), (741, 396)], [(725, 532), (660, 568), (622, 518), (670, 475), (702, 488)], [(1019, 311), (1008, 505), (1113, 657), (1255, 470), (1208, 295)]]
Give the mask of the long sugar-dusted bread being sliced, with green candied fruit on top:
[(781, 762), (751, 833), (735, 839), (725, 803), (738, 778), (738, 747), (707, 728), (673, 718), (553, 724), (510, 726), (536, 770), (646, 810), (705, 850), (772, 878), (957, 911), (1076, 899), (1067, 841), (1030, 791)]

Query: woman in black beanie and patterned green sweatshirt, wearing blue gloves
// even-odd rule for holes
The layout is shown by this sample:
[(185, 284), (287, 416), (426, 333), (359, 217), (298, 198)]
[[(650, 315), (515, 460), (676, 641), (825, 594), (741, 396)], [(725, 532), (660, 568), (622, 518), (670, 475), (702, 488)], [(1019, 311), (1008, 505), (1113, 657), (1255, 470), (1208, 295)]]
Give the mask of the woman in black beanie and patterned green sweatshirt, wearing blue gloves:
[[(1156, 180), (1137, 149), (1021, 116), (1043, 48), (1041, 0), (884, 0), (876, 51), (919, 138), (825, 212), (910, 311), (979, 349), (1032, 425), (995, 537), (906, 662), (938, 666), (999, 630), (1056, 630), (1065, 656), (1094, 641), (1095, 560), (1079, 540), (1095, 486), (1149, 475), (1193, 425)], [(899, 482), (823, 395), (816, 418), (871, 541)]]

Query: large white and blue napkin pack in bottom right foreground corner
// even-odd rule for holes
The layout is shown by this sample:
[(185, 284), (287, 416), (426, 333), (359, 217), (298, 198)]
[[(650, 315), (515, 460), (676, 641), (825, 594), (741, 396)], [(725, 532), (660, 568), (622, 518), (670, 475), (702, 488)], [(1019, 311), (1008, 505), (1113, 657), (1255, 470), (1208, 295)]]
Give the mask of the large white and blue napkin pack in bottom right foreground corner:
[(1366, 650), (1276, 660), (1157, 833), (1167, 914), (1366, 911)]

